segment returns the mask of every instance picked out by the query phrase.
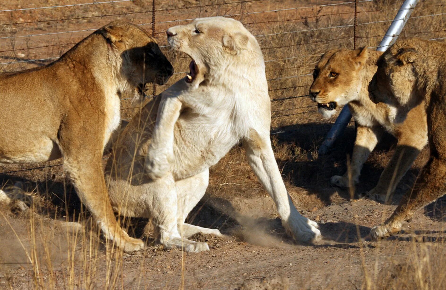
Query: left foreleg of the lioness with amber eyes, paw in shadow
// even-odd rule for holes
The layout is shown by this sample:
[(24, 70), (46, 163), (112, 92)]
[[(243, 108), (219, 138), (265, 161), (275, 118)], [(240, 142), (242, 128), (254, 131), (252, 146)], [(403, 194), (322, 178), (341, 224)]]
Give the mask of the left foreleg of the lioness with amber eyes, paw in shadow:
[(368, 156), (380, 140), (382, 133), (383, 130), (378, 127), (371, 128), (359, 126), (357, 128), (350, 167), (347, 168), (347, 171), (343, 176), (332, 176), (330, 179), (331, 185), (341, 188), (350, 188), (358, 184), (359, 175), (361, 174), (364, 162), (367, 161)]

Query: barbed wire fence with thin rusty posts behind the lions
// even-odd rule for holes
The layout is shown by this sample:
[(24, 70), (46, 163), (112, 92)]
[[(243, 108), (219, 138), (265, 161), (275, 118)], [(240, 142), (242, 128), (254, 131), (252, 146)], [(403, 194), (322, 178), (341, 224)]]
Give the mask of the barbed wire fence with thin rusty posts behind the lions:
[[(155, 1), (155, 2), (153, 2)], [(10, 1), (0, 5), (0, 72), (42, 66), (59, 58), (78, 41), (110, 21), (140, 25), (157, 39), (176, 73), (159, 93), (184, 77), (188, 56), (169, 51), (165, 31), (198, 17), (224, 16), (241, 21), (264, 53), (272, 127), (327, 122), (307, 97), (318, 58), (334, 48), (376, 47), (403, 0), (62, 0)], [(445, 0), (420, 2), (401, 37), (446, 38)], [(32, 97), (33, 88), (29, 88)], [(134, 113), (123, 96), (122, 118)], [(19, 108), (18, 108), (19, 109)], [(281, 130), (275, 130), (282, 132)], [(49, 165), (0, 167), (0, 174), (52, 169)]]

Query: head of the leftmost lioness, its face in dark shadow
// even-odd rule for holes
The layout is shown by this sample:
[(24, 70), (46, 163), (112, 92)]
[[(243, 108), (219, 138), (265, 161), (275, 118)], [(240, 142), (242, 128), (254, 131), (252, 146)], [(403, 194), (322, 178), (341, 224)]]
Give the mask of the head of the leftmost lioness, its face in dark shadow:
[(140, 27), (125, 21), (113, 21), (98, 30), (109, 46), (118, 51), (120, 73), (131, 87), (143, 90), (145, 83), (164, 84), (173, 67), (157, 41)]

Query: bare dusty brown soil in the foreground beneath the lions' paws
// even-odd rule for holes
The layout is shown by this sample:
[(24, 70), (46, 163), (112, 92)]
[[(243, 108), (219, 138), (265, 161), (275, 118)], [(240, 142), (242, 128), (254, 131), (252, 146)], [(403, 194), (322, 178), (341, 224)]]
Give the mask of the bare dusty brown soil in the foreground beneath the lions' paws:
[[(272, 207), (271, 199), (266, 197), (249, 202), (252, 207), (257, 207), (259, 214), (261, 208)], [(242, 216), (236, 220), (241, 224), (232, 221), (237, 225), (223, 227), (222, 232), (228, 234), (227, 238), (194, 237), (195, 240), (208, 242), (209, 252), (187, 254), (176, 249), (165, 251), (159, 247), (148, 247), (144, 253), (124, 255), (119, 266), (122, 274), (118, 285), (124, 286), (124, 289), (173, 289), (182, 283), (186, 289), (236, 289), (242, 285), (243, 289), (268, 289), (256, 288), (268, 284), (262, 282), (267, 278), (269, 282), (276, 279), (273, 282), (283, 287), (270, 289), (287, 289), (287, 286), (289, 289), (359, 289), (363, 286), (365, 273), (372, 277), (384, 275), (396, 279), (399, 269), (396, 266), (416, 259), (425, 249), (444, 257), (442, 242), (445, 224), (438, 221), (438, 215), (433, 218), (432, 211), (419, 211), (399, 235), (379, 242), (369, 241), (370, 226), (379, 223), (393, 209), (394, 206), (353, 200), (303, 211), (304, 215), (318, 220), (324, 236), (324, 240), (315, 245), (293, 244), (284, 234), (280, 221), (275, 218), (248, 218), (240, 214)], [(206, 209), (201, 214), (212, 215)], [(215, 217), (206, 222), (218, 223)], [(228, 216), (226, 218), (230, 219)], [(11, 245), (11, 242), (5, 243), (3, 240), (5, 235), (10, 234), (4, 220), (0, 227), (2, 244)], [(363, 238), (360, 241), (358, 232)], [(61, 235), (55, 234), (59, 238)], [(13, 249), (17, 252), (11, 252)], [(52, 253), (59, 251), (63, 252), (64, 249), (55, 248)], [(14, 257), (1, 257), (9, 264), (2, 271), (0, 286), (29, 289), (33, 285), (33, 272), (25, 262), (26, 257), (20, 254), (20, 246), (16, 245), (7, 252), (14, 253)], [(2, 253), (5, 253), (4, 247)], [(101, 277), (107, 275), (105, 253), (103, 256), (97, 261), (96, 279), (92, 285), (98, 289), (104, 287)], [(79, 267), (74, 266), (74, 269), (81, 275), (82, 262), (77, 263)], [(56, 267), (58, 269), (54, 270), (61, 288), (67, 266), (60, 261)], [(42, 273), (45, 279), (45, 270)]]

